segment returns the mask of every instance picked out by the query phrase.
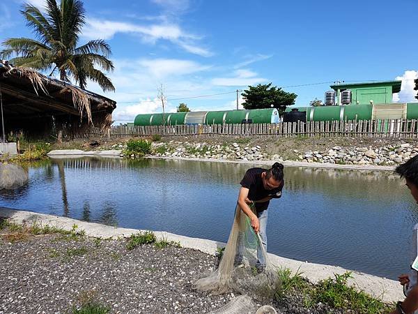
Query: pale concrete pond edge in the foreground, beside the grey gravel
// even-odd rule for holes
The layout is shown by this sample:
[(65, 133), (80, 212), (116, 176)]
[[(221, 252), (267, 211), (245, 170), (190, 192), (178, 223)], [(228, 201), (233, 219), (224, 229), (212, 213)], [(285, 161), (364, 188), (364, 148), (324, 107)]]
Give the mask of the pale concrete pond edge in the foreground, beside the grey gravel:
[[(101, 225), (99, 223), (88, 223), (82, 220), (66, 218), (61, 216), (54, 216), (49, 214), (39, 214), (33, 211), (22, 211), (16, 209), (8, 209), (0, 207), (0, 216), (10, 218), (16, 223), (26, 223), (31, 225), (33, 222), (41, 225), (51, 225), (63, 228), (64, 230), (72, 230), (73, 225), (77, 225), (77, 230), (84, 230), (88, 237), (100, 237), (104, 239), (130, 237), (139, 231), (137, 229), (128, 229), (123, 227), (111, 227), (108, 225)], [(192, 237), (185, 237), (170, 232), (155, 231), (157, 239), (167, 239), (168, 241), (178, 241), (182, 248), (192, 248), (210, 255), (215, 255), (217, 248), (225, 246), (224, 243), (212, 241), (208, 239), (199, 239)], [(307, 278), (311, 283), (318, 283), (318, 281), (325, 278), (334, 277), (334, 274), (343, 274), (348, 269), (336, 267), (325, 264), (316, 264), (310, 262), (301, 262), (298, 260), (291, 260), (286, 257), (280, 257), (274, 254), (268, 254), (272, 263), (278, 267), (289, 268), (293, 273), (300, 272), (304, 278)], [(355, 285), (359, 290), (363, 290), (378, 299), (385, 302), (394, 302), (403, 299), (402, 287), (397, 281), (387, 278), (381, 278), (361, 272), (353, 271), (353, 279), (350, 280), (351, 285)]]

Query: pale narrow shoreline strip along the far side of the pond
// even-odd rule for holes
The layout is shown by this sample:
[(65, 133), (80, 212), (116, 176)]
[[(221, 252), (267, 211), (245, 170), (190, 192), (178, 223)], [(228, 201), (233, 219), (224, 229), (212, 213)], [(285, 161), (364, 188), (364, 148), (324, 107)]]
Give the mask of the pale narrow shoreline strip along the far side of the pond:
[[(120, 150), (111, 151), (81, 151), (78, 149), (62, 149), (50, 151), (47, 156), (49, 158), (81, 158), (81, 157), (105, 157), (105, 158), (121, 158)], [(52, 154), (51, 154), (52, 153)], [(274, 160), (227, 160), (214, 158), (179, 158), (179, 157), (163, 157), (163, 156), (145, 156), (144, 158), (169, 159), (169, 160), (192, 160), (192, 161), (210, 161), (214, 163), (240, 163), (246, 165), (271, 165)], [(302, 161), (284, 160), (281, 161), (286, 167), (312, 167), (323, 169), (341, 169), (341, 170), (369, 170), (369, 171), (394, 171), (395, 166), (380, 165), (339, 165), (335, 163), (307, 163)]]

